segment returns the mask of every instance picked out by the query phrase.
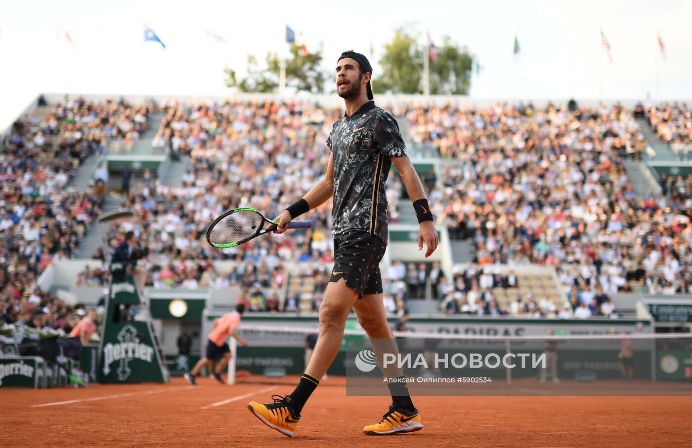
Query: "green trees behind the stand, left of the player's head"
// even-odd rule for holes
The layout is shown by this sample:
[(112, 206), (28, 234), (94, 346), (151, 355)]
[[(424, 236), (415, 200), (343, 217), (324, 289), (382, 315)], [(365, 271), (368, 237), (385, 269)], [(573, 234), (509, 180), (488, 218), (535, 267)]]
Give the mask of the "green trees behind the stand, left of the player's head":
[[(277, 53), (268, 52), (265, 57), (266, 67), (260, 67), (257, 57), (248, 55), (247, 76), (237, 80), (235, 70), (224, 68), (226, 86), (237, 87), (241, 92), (277, 92), (281, 59)], [(320, 93), (324, 91), (327, 75), (322, 72), (322, 43), (316, 52), (305, 55), (302, 46), (291, 45), (286, 57), (286, 88), (296, 91)]]

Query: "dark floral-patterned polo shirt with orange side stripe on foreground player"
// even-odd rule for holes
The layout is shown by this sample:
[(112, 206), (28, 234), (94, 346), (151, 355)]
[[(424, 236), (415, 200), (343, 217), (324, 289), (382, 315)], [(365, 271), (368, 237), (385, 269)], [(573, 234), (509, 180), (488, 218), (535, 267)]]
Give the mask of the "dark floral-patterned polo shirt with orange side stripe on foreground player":
[(370, 100), (334, 123), (327, 138), (334, 154), (332, 235), (359, 230), (388, 242), (385, 183), (395, 157), (406, 157), (399, 124)]

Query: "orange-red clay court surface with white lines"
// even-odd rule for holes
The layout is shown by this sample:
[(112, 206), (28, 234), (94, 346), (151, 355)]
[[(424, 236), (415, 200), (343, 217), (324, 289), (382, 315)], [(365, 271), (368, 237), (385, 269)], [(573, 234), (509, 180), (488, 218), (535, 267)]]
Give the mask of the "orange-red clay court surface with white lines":
[(691, 397), (416, 398), (424, 429), (365, 436), (386, 411), (383, 397), (347, 397), (345, 380), (322, 382), (293, 438), (247, 409), (288, 393), (294, 378), (248, 378), (224, 386), (200, 378), (168, 384), (94, 385), (88, 389), (10, 389), (0, 393), (0, 446), (345, 446), (593, 447), (689, 446)]

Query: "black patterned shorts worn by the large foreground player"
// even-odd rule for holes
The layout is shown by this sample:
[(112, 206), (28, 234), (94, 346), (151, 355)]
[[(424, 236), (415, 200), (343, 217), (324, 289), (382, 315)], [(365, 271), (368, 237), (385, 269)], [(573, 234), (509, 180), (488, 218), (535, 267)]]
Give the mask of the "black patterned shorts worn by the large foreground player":
[(363, 231), (347, 231), (334, 240), (334, 269), (330, 282), (341, 277), (349, 288), (364, 294), (382, 293), (380, 260), (385, 255), (387, 244), (380, 237)]

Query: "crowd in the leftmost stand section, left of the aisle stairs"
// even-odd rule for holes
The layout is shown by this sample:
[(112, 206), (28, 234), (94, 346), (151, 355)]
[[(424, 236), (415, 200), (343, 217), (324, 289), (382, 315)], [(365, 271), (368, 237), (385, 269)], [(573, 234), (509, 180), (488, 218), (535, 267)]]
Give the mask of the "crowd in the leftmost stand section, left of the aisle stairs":
[(37, 278), (54, 261), (81, 255), (78, 242), (105, 194), (102, 182), (80, 191), (73, 177), (109, 140), (138, 138), (155, 105), (81, 97), (53, 106), (39, 98), (39, 105), (0, 142), (0, 322), (65, 329), (83, 307), (39, 291)]

